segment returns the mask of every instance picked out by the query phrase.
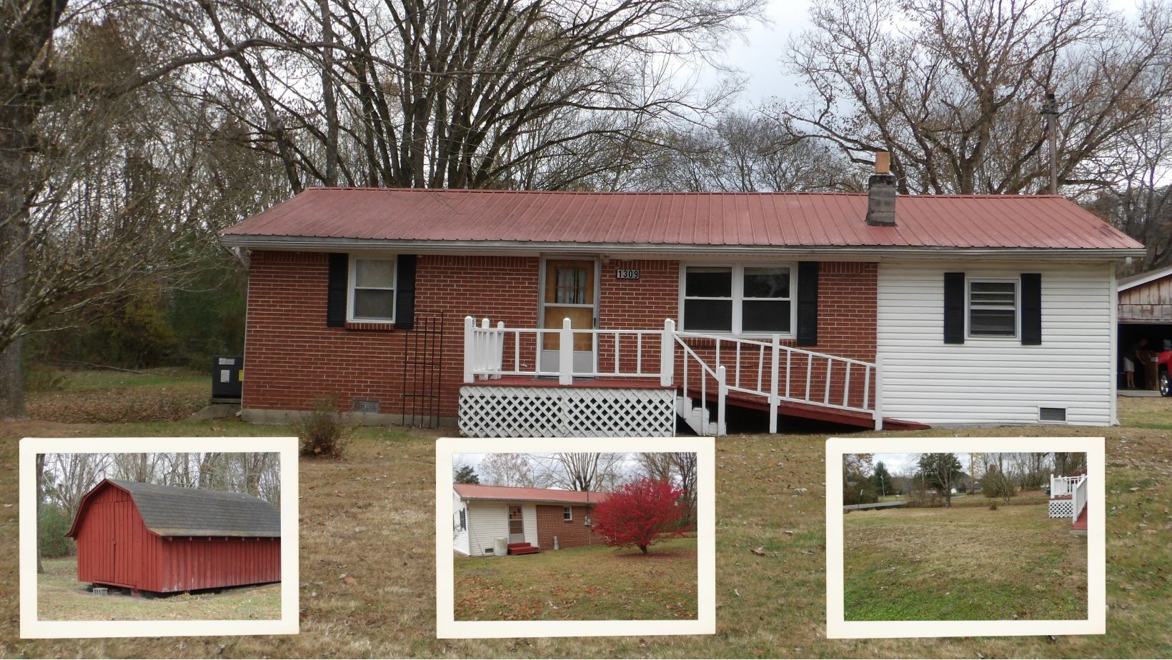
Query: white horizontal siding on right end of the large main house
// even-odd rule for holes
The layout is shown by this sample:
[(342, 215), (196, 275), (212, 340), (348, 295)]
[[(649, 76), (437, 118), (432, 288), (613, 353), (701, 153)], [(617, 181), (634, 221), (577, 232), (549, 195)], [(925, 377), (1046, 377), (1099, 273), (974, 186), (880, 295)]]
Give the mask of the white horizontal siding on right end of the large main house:
[[(1111, 265), (899, 260), (879, 265), (878, 352), (884, 416), (928, 424), (1037, 423), (1038, 407), (1072, 424), (1109, 426), (1115, 394)], [(1042, 273), (1042, 345), (943, 342), (943, 273)]]

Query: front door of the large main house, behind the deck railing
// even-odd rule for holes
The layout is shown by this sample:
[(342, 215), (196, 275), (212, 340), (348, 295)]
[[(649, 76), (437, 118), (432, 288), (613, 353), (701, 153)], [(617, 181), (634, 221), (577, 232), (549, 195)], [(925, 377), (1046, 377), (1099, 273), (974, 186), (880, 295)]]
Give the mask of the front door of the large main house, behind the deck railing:
[[(593, 259), (546, 259), (541, 279), (541, 327), (560, 329), (570, 319), (574, 329), (594, 329), (598, 318), (598, 268)], [(541, 370), (558, 370), (557, 333), (541, 342)], [(574, 333), (574, 372), (594, 372), (594, 335)]]

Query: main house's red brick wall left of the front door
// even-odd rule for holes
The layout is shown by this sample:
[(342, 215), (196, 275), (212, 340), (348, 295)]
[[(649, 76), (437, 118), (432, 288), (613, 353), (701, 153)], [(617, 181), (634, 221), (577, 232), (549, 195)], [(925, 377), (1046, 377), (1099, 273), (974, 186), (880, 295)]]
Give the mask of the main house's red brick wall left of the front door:
[[(245, 409), (306, 410), (336, 394), (402, 407), (404, 339), (409, 331), (326, 327), (327, 254), (252, 253), (245, 336)], [(421, 256), (416, 309), (444, 312), (441, 415), (455, 416), (464, 374), (464, 317), (511, 327), (537, 324), (538, 258)]]

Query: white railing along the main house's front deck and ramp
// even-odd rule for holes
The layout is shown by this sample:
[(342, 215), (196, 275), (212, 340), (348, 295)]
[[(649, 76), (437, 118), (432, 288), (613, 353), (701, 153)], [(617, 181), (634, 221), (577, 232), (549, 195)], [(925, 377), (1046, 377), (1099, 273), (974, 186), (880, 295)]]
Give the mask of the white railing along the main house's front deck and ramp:
[[(557, 349), (545, 348), (556, 335)], [(590, 335), (591, 367), (574, 367), (574, 339)], [(785, 346), (781, 335), (770, 340), (677, 332), (668, 319), (663, 329), (574, 329), (570, 319), (561, 328), (495, 327), (489, 319), (477, 326), (464, 318), (464, 382), (500, 376), (557, 377), (572, 385), (574, 377), (659, 379), (660, 385), (680, 385), (684, 395), (717, 394), (717, 420), (724, 428), (724, 400), (729, 392), (763, 397), (776, 411), (783, 401), (871, 414), (875, 428), (883, 428), (883, 365), (816, 353)], [(703, 354), (691, 343), (704, 343)], [(676, 383), (676, 348), (682, 353), (682, 382)], [(545, 353), (557, 355), (557, 368), (546, 363)], [(709, 387), (709, 381), (715, 381)], [(770, 415), (770, 433), (777, 433), (777, 415)]]

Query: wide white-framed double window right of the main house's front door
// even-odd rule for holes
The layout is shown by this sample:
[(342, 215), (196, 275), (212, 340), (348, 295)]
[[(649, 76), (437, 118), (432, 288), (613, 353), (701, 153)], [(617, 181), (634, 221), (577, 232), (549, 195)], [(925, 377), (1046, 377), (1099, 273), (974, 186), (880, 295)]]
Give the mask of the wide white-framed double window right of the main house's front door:
[(791, 275), (790, 266), (684, 266), (682, 328), (792, 334)]

